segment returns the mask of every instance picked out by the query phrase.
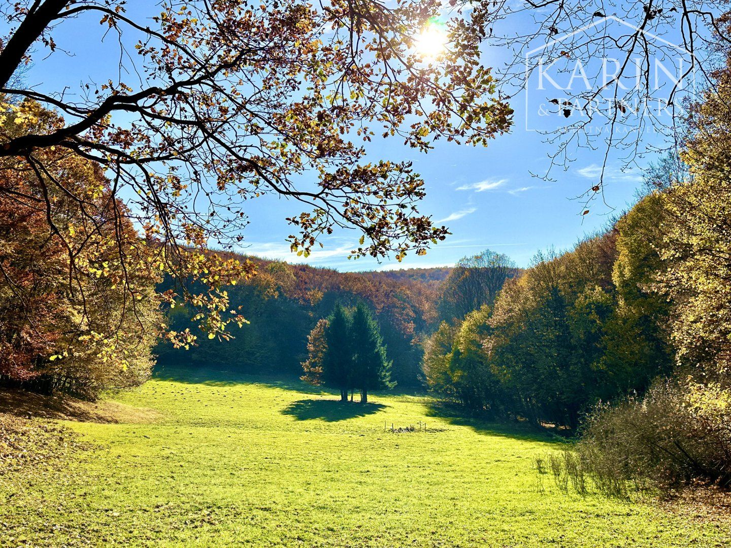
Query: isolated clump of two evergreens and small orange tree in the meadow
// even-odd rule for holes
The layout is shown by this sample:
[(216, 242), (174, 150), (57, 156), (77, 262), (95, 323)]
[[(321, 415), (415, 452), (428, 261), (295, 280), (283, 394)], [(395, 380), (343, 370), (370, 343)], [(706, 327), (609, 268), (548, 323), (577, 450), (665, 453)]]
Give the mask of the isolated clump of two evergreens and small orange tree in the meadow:
[(368, 392), (393, 388), (391, 363), (378, 325), (363, 302), (355, 310), (339, 303), (327, 319), (321, 319), (308, 336), (308, 358), (303, 362), (303, 381), (323, 384), (340, 391), (341, 401), (348, 392), (360, 392), (360, 402), (368, 403)]

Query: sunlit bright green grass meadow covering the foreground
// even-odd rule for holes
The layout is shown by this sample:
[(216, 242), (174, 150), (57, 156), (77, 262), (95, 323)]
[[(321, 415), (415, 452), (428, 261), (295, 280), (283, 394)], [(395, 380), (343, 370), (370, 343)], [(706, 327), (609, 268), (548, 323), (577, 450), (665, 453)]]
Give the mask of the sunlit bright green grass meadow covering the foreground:
[[(166, 378), (167, 377), (167, 378)], [(163, 372), (115, 399), (154, 422), (64, 422), (90, 444), (0, 485), (0, 544), (97, 546), (727, 546), (728, 522), (564, 495), (548, 438), (372, 404), (296, 382)], [(156, 417), (150, 419), (150, 417)], [(126, 413), (125, 420), (135, 420)], [(384, 432), (426, 422), (427, 432)], [(1, 481), (1, 480), (0, 480)]]

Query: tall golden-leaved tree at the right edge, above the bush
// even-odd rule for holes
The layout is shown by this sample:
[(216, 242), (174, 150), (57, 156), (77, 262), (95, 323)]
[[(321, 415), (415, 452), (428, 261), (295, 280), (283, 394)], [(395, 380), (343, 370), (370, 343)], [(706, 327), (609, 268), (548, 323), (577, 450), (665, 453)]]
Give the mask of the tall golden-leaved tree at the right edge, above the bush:
[(703, 376), (731, 373), (731, 68), (694, 105), (682, 159), (692, 183), (664, 195), (667, 234), (662, 277), (675, 302), (678, 359)]

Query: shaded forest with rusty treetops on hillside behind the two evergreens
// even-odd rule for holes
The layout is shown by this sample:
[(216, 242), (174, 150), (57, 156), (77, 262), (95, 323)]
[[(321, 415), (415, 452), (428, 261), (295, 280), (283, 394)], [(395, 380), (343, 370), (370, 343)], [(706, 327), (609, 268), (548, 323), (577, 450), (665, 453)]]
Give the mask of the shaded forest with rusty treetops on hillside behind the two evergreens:
[[(257, 265), (258, 274), (226, 289), (232, 308), (246, 311), (250, 322), (236, 330), (232, 340), (203, 338), (188, 350), (161, 344), (156, 349), (159, 362), (216, 363), (245, 373), (298, 376), (300, 363), (307, 357), (308, 334), (317, 320), (328, 316), (337, 302), (345, 307), (366, 302), (393, 362), (393, 379), (403, 386), (423, 384), (421, 342), (433, 329), (437, 280), (448, 269), (431, 273), (433, 281), (423, 283), (418, 270), (411, 273), (414, 279), (401, 272), (340, 273), (253, 257), (248, 260)], [(186, 306), (167, 312), (173, 330), (182, 330), (193, 314)]]

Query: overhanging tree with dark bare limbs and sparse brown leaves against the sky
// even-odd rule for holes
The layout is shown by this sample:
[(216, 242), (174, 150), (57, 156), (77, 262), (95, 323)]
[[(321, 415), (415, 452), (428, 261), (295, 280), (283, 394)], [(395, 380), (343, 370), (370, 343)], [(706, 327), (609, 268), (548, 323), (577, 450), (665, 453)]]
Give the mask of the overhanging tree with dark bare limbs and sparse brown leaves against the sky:
[[(1, 110), (23, 122), (48, 108), (60, 116), (53, 126), (0, 134), (0, 158), (46, 193), (64, 186), (47, 173), (49, 150), (102, 166), (112, 197), (129, 197), (124, 218), (159, 242), (179, 297), (208, 316), (194, 318), (214, 338), (227, 337), (226, 295), (190, 291), (188, 278), (254, 273), (251, 263), (205, 252), (240, 243), (248, 200), (291, 200), (289, 241), (298, 254), (335, 227), (360, 232), (352, 256), (423, 254), (447, 229), (416, 208), (422, 178), (408, 161), (367, 160), (367, 143), (394, 137), (428, 151), (439, 138), (485, 144), (510, 127), (469, 16), (447, 23), (449, 47), (438, 59), (414, 48), (439, 15), (437, 0), (151, 6), (128, 13), (123, 0), (25, 0), (1, 8), (9, 31), (0, 39), (0, 93), (12, 98)], [(118, 37), (119, 50), (105, 50), (115, 76), (85, 72), (55, 89), (35, 85), (48, 56), (73, 52), (56, 43), (72, 20), (98, 26), (99, 39)], [(12, 189), (0, 192), (18, 199)]]

